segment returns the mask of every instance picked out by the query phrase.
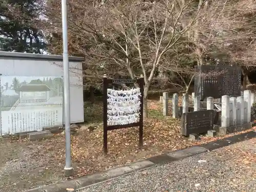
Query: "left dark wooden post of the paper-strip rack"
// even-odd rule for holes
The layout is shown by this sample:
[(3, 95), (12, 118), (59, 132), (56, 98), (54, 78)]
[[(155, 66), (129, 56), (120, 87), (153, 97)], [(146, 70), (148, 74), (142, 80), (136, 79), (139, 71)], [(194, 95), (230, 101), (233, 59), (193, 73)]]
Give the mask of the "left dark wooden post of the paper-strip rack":
[(108, 154), (108, 81), (103, 76), (103, 151)]

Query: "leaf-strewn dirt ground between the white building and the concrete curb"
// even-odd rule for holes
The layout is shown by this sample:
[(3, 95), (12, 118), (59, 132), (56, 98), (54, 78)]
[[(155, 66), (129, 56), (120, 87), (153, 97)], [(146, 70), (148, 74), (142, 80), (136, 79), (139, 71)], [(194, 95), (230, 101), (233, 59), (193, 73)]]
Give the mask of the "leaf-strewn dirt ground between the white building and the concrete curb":
[[(108, 133), (109, 154), (104, 156), (102, 105), (101, 102), (87, 103), (86, 124), (72, 135), (74, 177), (223, 138), (202, 135), (200, 141), (190, 141), (181, 136), (179, 120), (162, 116), (159, 102), (151, 101), (149, 108), (150, 118), (144, 121), (144, 147), (138, 148), (139, 130), (136, 127), (114, 130)], [(64, 133), (33, 142), (0, 138), (0, 148), (0, 191), (20, 192), (67, 179), (63, 176)]]

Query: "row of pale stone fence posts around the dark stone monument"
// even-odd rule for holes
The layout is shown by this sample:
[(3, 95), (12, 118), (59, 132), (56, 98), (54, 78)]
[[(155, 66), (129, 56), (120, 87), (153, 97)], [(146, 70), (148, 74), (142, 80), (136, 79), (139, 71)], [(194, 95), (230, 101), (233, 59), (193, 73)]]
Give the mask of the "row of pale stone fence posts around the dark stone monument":
[[(251, 93), (250, 90), (245, 90), (241, 92), (240, 97), (229, 97), (227, 95), (222, 96), (221, 105), (222, 105), (222, 113), (221, 113), (221, 126), (229, 127), (242, 125), (246, 123), (250, 123), (251, 118), (251, 105), (255, 102), (254, 93)], [(163, 102), (163, 115), (168, 116), (168, 93), (164, 92), (163, 97), (161, 98)], [(173, 94), (173, 118), (178, 118), (178, 100), (179, 95), (177, 93)], [(192, 100), (194, 103), (194, 111), (200, 110), (200, 98), (192, 95)], [(214, 98), (207, 98), (207, 110), (214, 109)], [(188, 112), (188, 104), (189, 99), (187, 94), (183, 94), (182, 96), (182, 113)]]

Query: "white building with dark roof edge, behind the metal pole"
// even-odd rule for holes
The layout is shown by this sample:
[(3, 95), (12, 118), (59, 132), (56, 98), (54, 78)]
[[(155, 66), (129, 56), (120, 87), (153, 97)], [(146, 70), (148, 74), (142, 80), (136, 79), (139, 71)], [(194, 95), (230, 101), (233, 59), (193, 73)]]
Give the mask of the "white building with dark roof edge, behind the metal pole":
[[(84, 58), (82, 57), (69, 57), (71, 123), (84, 121), (83, 60)], [(0, 87), (3, 88), (5, 87), (4, 79), (8, 79), (7, 76), (10, 76), (10, 78), (11, 76), (16, 77), (17, 79), (24, 79), (24, 77), (45, 77), (49, 79), (50, 77), (59, 77), (62, 79), (62, 56), (0, 51), (0, 75), (0, 80), (2, 79), (3, 81), (0, 82)], [(35, 84), (30, 83), (28, 86), (28, 84), (23, 84), (20, 81), (20, 89), (11, 90), (14, 95), (18, 94), (16, 96), (18, 98), (15, 98), (18, 100), (14, 104), (12, 103), (13, 105), (9, 108), (5, 106), (5, 110), (0, 108), (2, 122), (0, 123), (0, 135), (34, 130), (40, 131), (42, 126), (65, 123), (65, 118), (63, 118), (65, 106), (63, 106), (62, 102), (62, 90), (57, 88), (52, 90), (48, 85), (44, 85), (44, 83), (40, 85)], [(6, 92), (2, 90), (2, 94), (7, 94)], [(42, 105), (36, 103), (42, 103)], [(7, 105), (9, 106), (9, 103)], [(35, 119), (35, 122), (33, 119)]]

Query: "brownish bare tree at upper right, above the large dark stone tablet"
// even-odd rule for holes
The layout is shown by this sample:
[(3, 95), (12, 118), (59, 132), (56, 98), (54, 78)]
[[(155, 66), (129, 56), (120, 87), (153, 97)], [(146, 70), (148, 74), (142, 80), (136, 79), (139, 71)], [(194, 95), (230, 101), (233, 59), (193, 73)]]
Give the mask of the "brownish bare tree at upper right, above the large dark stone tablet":
[(208, 30), (200, 28), (202, 42), (209, 55), (219, 58), (220, 62), (242, 66), (244, 89), (249, 83), (247, 73), (255, 67), (255, 13), (254, 0), (221, 0), (209, 4), (207, 8), (203, 21), (207, 26), (201, 26)]

